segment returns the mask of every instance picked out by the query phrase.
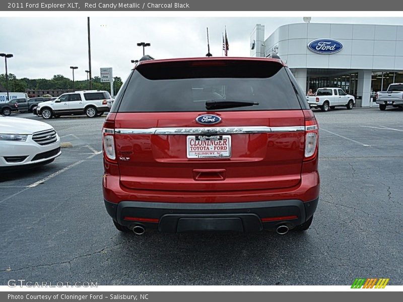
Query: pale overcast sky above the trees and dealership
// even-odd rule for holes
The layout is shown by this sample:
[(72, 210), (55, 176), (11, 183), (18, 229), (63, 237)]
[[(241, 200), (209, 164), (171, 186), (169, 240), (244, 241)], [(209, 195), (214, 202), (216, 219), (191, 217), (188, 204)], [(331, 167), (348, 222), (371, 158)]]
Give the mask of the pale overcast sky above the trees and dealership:
[[(222, 32), (227, 26), (230, 56), (249, 56), (249, 37), (257, 24), (265, 25), (266, 38), (281, 25), (300, 23), (302, 17), (91, 17), (92, 76), (100, 67), (113, 67), (113, 76), (124, 81), (132, 68), (131, 59), (146, 54), (155, 58), (195, 57), (207, 53), (206, 27), (210, 52), (222, 55)], [(353, 23), (403, 25), (403, 18), (319, 18), (311, 23)], [(0, 18), (0, 52), (13, 53), (9, 72), (17, 78), (50, 79), (54, 74), (72, 77), (70, 66), (78, 66), (76, 80), (86, 80), (88, 69), (87, 18), (41, 17)], [(0, 73), (4, 73), (0, 61)]]

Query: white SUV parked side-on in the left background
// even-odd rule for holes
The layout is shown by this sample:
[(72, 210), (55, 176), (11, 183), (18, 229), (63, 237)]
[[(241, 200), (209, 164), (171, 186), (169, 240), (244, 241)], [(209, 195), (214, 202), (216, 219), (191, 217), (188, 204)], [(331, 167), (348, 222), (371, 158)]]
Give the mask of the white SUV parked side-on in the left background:
[(108, 102), (110, 101), (111, 97), (107, 91), (76, 91), (62, 94), (53, 101), (39, 103), (33, 111), (44, 119), (83, 113), (88, 117), (96, 117), (109, 111)]

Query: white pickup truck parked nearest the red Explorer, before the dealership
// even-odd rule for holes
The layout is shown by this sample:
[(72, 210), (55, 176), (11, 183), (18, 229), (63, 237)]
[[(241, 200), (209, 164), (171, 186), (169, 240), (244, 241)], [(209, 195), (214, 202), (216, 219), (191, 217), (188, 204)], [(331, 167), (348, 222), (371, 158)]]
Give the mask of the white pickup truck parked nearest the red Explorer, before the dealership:
[(306, 97), (309, 107), (320, 108), (322, 111), (327, 112), (334, 107), (343, 106), (347, 109), (353, 109), (356, 102), (354, 96), (346, 94), (340, 88), (319, 88), (315, 96)]

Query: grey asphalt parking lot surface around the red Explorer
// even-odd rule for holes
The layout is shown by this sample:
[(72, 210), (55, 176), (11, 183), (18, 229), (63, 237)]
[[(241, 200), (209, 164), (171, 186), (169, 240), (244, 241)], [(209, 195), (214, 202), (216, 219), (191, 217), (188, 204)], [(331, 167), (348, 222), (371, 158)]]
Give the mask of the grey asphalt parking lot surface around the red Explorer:
[(73, 147), (48, 166), (0, 174), (0, 284), (351, 285), (384, 277), (401, 285), (403, 110), (314, 112), (319, 205), (307, 232), (285, 236), (122, 234), (102, 198), (105, 117), (49, 120)]

